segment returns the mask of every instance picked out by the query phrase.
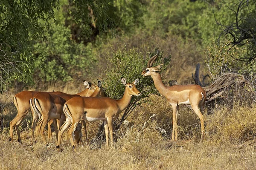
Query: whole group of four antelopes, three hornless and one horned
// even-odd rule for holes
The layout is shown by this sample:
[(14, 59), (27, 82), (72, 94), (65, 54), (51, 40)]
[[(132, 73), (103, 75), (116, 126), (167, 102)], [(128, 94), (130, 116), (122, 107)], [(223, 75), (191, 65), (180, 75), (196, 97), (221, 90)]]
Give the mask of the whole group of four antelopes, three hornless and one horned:
[[(170, 86), (163, 84), (160, 68), (163, 64), (152, 67), (157, 59), (158, 52), (149, 59), (147, 69), (142, 72), (142, 76), (151, 76), (156, 89), (161, 95), (166, 97), (173, 110), (172, 141), (177, 140), (177, 117), (180, 104), (191, 105), (201, 121), (201, 138), (204, 138), (204, 102), (206, 92), (198, 85), (179, 85), (171, 82)], [(64, 92), (38, 92), (23, 91), (13, 97), (13, 102), (17, 108), (17, 115), (10, 122), (10, 138), (13, 141), (13, 128), (17, 132), (18, 142), (21, 143), (19, 126), (29, 109), (32, 112), (32, 144), (34, 132), (37, 128), (44, 143), (47, 142), (44, 135), (44, 127), (48, 123), (48, 139), (51, 138), (50, 125), (53, 122), (56, 133), (56, 148), (60, 148), (61, 138), (65, 130), (70, 137), (73, 149), (81, 142), (81, 123), (84, 127), (84, 135), (87, 139), (85, 121), (103, 121), (106, 135), (106, 145), (109, 146), (109, 133), (111, 146), (113, 146), (113, 120), (128, 107), (133, 95), (140, 96), (140, 91), (136, 88), (139, 79), (132, 83), (127, 83), (125, 78), (121, 78), (125, 86), (125, 92), (120, 100), (105, 97), (102, 89), (102, 82), (98, 85), (84, 81), (85, 90), (71, 95)], [(81, 122), (81, 123), (80, 123)], [(36, 127), (37, 125), (37, 127)], [(36, 135), (36, 139), (37, 139)]]

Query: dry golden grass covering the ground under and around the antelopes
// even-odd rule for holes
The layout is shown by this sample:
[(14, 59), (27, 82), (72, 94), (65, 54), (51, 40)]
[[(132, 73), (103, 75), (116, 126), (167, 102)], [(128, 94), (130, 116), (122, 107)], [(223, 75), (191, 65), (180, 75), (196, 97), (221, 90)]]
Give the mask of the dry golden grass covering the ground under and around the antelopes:
[[(6, 122), (16, 114), (11, 106), (4, 110)], [(137, 107), (115, 133), (117, 141), (113, 148), (106, 148), (105, 141), (83, 141), (79, 151), (73, 152), (67, 133), (64, 133), (60, 153), (55, 150), (55, 140), (47, 146), (38, 142), (31, 147), (31, 123), (26, 125), (26, 121), (21, 133), (23, 145), (17, 141), (10, 143), (6, 124), (0, 133), (0, 167), (39, 170), (256, 169), (255, 113), (256, 106), (239, 103), (234, 103), (232, 108), (218, 105), (210, 112), (206, 109), (206, 138), (201, 141), (199, 119), (188, 108), (180, 107), (179, 140), (171, 142), (172, 107), (163, 97), (151, 96), (151, 102)], [(87, 124), (89, 141), (94, 138), (98, 125), (99, 122)]]

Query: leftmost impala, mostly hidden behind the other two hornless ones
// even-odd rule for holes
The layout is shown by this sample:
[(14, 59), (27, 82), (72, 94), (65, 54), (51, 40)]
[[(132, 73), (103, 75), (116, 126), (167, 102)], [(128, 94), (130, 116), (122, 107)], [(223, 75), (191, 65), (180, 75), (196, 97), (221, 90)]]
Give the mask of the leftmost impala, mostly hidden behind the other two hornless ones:
[[(96, 86), (94, 84), (90, 84), (89, 82), (85, 83), (86, 81), (84, 81), (84, 86), (87, 86), (87, 83), (89, 84), (89, 88), (83, 90), (82, 92), (77, 93), (76, 95), (80, 95), (80, 96), (90, 96), (91, 94), (93, 94), (94, 89), (96, 88)], [(34, 91), (23, 91), (23, 92), (19, 92), (17, 93), (14, 97), (13, 97), (13, 103), (15, 104), (15, 107), (18, 110), (17, 115), (15, 116), (14, 119), (12, 119), (12, 121), (10, 122), (10, 138), (9, 141), (13, 141), (13, 128), (15, 127), (16, 132), (17, 132), (17, 136), (18, 136), (18, 142), (21, 143), (21, 139), (20, 139), (20, 132), (18, 130), (21, 121), (25, 118), (26, 114), (29, 112), (30, 109), (30, 102), (29, 100), (38, 92), (34, 92)], [(49, 92), (50, 94), (66, 94), (63, 92)], [(34, 116), (35, 114), (32, 113), (32, 116)], [(33, 120), (35, 118), (33, 117)], [(36, 118), (37, 120), (38, 118)], [(48, 124), (48, 130), (50, 130)], [(48, 131), (48, 136), (49, 133), (51, 133), (50, 131)]]

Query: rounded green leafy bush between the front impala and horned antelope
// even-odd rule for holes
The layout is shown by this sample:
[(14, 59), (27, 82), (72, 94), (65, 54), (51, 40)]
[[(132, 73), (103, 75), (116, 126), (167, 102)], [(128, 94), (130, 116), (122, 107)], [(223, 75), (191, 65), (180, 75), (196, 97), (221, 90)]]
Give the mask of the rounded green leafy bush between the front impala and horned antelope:
[[(149, 57), (156, 54), (156, 50), (153, 53), (148, 53)], [(162, 54), (160, 52), (154, 65), (162, 63)], [(120, 82), (120, 78), (123, 77), (127, 82), (133, 82), (137, 78), (140, 78), (139, 84), (137, 84), (137, 89), (141, 92), (140, 97), (133, 97), (131, 104), (126, 109), (124, 115), (119, 120), (119, 125), (127, 118), (131, 111), (136, 107), (137, 104), (141, 104), (147, 101), (147, 98), (151, 94), (159, 94), (157, 89), (154, 87), (154, 82), (152, 78), (142, 77), (141, 72), (146, 69), (146, 65), (149, 58), (143, 59), (143, 54), (137, 52), (135, 49), (127, 50), (122, 47), (116, 52), (112, 52), (113, 56), (107, 56), (107, 69), (103, 73), (105, 92), (108, 97), (120, 99), (122, 98), (125, 86)], [(170, 57), (164, 60), (163, 71), (169, 64)]]

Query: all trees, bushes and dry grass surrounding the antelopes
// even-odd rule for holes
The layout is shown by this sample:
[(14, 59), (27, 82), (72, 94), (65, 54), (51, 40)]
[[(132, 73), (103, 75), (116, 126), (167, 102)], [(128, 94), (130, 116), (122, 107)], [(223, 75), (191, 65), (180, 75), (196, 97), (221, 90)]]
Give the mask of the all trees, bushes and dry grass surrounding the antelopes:
[[(254, 0), (2, 0), (1, 167), (255, 169), (255, 16)], [(205, 141), (200, 141), (198, 117), (180, 107), (179, 140), (172, 143), (172, 108), (155, 95), (152, 79), (140, 75), (157, 49), (156, 64), (165, 63), (161, 73), (165, 84), (172, 79), (195, 84), (191, 73), (201, 63), (201, 80), (209, 75), (206, 84), (225, 72), (236, 72), (250, 81), (253, 90), (234, 86), (226, 89), (223, 99), (206, 105)], [(38, 144), (31, 150), (29, 118), (20, 127), (23, 147), (8, 143), (8, 124), (17, 114), (12, 104), (15, 93), (25, 89), (76, 93), (84, 89), (83, 80), (102, 78), (107, 95), (120, 98), (121, 76), (128, 82), (140, 78), (143, 95), (133, 98), (116, 122), (113, 150), (105, 148), (103, 140), (94, 140), (98, 122), (87, 126), (93, 142), (84, 141), (77, 155), (67, 147), (67, 135), (61, 155), (54, 144)], [(27, 158), (32, 161), (20, 162)]]

